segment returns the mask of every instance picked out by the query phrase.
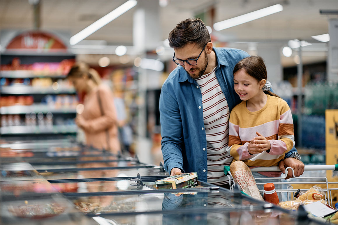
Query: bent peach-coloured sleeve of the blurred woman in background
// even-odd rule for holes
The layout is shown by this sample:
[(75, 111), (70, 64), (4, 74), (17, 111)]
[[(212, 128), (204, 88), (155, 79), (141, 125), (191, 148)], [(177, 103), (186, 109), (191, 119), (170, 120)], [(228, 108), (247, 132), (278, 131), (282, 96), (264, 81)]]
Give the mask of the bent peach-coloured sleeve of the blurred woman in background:
[[(102, 115), (103, 113), (103, 115), (95, 119), (86, 120), (86, 123), (83, 124), (84, 130), (91, 133), (117, 126), (117, 115), (112, 92), (109, 89), (100, 88), (96, 95), (100, 96), (101, 109), (98, 108), (98, 110), (100, 110), (100, 114)], [(97, 102), (97, 105), (100, 105), (98, 97)]]

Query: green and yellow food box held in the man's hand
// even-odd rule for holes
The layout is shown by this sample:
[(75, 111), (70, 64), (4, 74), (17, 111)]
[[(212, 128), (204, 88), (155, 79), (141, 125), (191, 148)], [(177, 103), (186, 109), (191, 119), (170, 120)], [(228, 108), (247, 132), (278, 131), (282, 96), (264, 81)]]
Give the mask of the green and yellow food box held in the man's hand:
[(182, 173), (157, 180), (156, 189), (193, 188), (198, 185), (197, 173)]

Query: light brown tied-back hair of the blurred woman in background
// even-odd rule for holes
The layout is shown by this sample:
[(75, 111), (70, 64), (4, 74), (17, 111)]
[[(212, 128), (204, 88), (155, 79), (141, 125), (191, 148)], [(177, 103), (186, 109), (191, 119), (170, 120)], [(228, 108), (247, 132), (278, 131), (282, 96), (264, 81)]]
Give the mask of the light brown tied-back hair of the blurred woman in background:
[(69, 77), (82, 77), (83, 74), (87, 74), (88, 78), (93, 80), (97, 85), (101, 83), (101, 78), (99, 73), (90, 68), (86, 63), (84, 62), (76, 62), (72, 68), (70, 69), (67, 78)]

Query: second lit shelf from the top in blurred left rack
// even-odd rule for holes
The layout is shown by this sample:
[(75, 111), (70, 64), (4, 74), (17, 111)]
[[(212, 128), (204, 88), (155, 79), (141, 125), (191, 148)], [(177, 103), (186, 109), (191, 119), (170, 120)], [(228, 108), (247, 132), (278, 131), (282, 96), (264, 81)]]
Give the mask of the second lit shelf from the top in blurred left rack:
[(2, 86), (1, 94), (24, 95), (24, 94), (75, 94), (73, 88), (62, 88), (54, 90), (52, 87), (32, 87), (25, 85)]

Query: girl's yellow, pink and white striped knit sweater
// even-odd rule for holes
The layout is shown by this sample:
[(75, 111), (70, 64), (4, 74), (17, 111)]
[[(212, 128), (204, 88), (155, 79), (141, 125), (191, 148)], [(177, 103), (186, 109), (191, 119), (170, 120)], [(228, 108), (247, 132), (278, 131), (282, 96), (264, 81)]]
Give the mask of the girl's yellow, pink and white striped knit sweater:
[[(263, 108), (251, 112), (246, 101), (236, 105), (230, 114), (229, 146), (227, 151), (234, 160), (241, 160), (249, 167), (277, 166), (285, 153), (294, 146), (293, 121), (288, 104), (281, 98), (267, 95)], [(271, 144), (271, 149), (259, 154), (250, 154), (248, 144), (261, 133)], [(279, 173), (264, 173), (280, 176)]]

